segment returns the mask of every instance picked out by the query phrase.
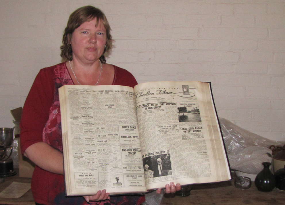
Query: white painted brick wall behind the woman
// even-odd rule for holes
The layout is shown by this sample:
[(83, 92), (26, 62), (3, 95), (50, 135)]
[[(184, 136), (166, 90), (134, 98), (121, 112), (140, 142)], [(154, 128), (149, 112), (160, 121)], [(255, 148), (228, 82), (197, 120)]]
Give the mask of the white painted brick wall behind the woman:
[(285, 141), (284, 0), (0, 0), (0, 127), (39, 69), (61, 62), (68, 17), (88, 4), (111, 25), (108, 63), (139, 83), (211, 81), (219, 117)]

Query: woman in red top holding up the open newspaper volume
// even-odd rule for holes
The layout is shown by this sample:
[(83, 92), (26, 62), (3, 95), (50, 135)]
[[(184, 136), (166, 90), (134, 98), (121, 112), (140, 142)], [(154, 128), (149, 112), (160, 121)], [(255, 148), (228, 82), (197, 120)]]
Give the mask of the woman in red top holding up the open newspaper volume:
[[(106, 64), (104, 53), (112, 47), (110, 30), (101, 10), (86, 6), (74, 11), (61, 46), (61, 57), (67, 61), (41, 69), (27, 96), (20, 138), (22, 154), (36, 164), (31, 183), (36, 204), (87, 204), (91, 201), (92, 204), (97, 204), (93, 201), (140, 204), (144, 201), (140, 196), (110, 198), (105, 189), (84, 198), (65, 196), (58, 88), (66, 84), (130, 87), (137, 84), (130, 72)], [(179, 184), (166, 185), (166, 193), (179, 189)], [(157, 193), (160, 191), (158, 189)]]

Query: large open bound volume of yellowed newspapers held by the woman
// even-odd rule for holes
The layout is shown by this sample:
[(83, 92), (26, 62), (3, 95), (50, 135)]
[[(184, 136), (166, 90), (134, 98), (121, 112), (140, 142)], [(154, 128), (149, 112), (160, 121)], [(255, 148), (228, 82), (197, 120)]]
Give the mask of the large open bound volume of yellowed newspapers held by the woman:
[(59, 88), (66, 194), (231, 179), (210, 83)]

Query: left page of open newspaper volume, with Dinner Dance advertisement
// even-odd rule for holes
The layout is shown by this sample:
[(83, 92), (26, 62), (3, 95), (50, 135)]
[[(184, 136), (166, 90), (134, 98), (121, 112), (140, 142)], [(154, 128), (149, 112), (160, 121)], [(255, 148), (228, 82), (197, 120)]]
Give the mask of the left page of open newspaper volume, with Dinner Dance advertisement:
[(146, 191), (133, 88), (59, 89), (66, 193)]

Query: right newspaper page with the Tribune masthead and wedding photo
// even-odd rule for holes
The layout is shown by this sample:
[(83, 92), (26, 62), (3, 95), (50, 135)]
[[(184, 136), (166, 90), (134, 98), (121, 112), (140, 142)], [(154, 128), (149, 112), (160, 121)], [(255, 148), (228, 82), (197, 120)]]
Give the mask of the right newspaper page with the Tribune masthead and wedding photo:
[(147, 189), (231, 179), (209, 83), (134, 88)]

